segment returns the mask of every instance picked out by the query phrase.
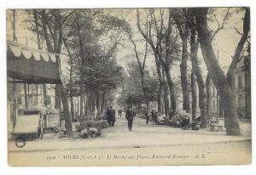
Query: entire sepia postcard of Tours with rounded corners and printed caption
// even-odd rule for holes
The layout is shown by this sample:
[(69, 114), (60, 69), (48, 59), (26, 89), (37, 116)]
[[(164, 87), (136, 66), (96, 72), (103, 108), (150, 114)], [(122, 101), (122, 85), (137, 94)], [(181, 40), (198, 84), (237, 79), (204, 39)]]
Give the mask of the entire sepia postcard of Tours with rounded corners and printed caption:
[(250, 25), (249, 7), (7, 9), (9, 166), (251, 164)]

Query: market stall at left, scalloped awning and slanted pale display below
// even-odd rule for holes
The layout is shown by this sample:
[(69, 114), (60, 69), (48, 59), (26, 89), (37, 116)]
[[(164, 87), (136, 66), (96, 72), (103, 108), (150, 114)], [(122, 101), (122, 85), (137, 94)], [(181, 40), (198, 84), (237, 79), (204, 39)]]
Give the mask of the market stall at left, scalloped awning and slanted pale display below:
[[(61, 83), (55, 54), (28, 48), (12, 41), (7, 41), (7, 76), (9, 83)], [(45, 129), (60, 126), (60, 112), (55, 110), (48, 110), (47, 114), (44, 110), (44, 115), (42, 110), (25, 109), (21, 112), (15, 110), (16, 121), (13, 131), (15, 136), (43, 137)]]

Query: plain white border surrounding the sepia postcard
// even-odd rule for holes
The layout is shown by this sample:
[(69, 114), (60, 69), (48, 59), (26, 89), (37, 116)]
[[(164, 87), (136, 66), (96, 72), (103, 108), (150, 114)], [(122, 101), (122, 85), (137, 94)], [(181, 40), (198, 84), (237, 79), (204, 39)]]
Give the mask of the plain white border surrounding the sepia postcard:
[[(212, 166), (212, 167), (9, 167), (7, 163), (7, 117), (6, 117), (6, 31), (5, 31), (5, 10), (7, 8), (143, 8), (143, 7), (209, 7), (209, 6), (249, 6), (251, 7), (251, 32), (252, 41), (255, 41), (255, 6), (253, 0), (1, 0), (0, 3), (0, 46), (1, 46), (1, 68), (0, 68), (0, 173), (11, 174), (255, 174), (256, 164), (254, 163), (254, 145), (255, 137), (253, 137), (253, 164), (249, 166)], [(255, 44), (252, 42), (252, 103), (255, 106)], [(254, 118), (255, 108), (253, 109), (252, 118)], [(253, 120), (253, 127), (255, 120)], [(253, 136), (255, 136), (253, 128)], [(221, 157), (220, 157), (221, 159)]]

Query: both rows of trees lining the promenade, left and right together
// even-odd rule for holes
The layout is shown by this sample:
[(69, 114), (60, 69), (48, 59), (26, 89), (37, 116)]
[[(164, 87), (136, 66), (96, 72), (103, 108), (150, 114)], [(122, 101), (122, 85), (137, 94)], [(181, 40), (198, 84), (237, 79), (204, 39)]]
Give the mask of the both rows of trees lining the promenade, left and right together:
[[(147, 8), (130, 11), (136, 16), (133, 19), (136, 20), (135, 26), (127, 18), (113, 15), (111, 10), (26, 11), (26, 22), (29, 30), (36, 34), (38, 49), (46, 48), (49, 53), (57, 55), (61, 77), (61, 54), (68, 55), (69, 81), (62, 81), (55, 86), (55, 108), (61, 109), (62, 103), (67, 133), (72, 136), (73, 97), (80, 99), (80, 116), (90, 116), (95, 113), (95, 109), (103, 112), (113, 101), (115, 89), (119, 87), (123, 88), (120, 103), (137, 103), (140, 106), (157, 100), (158, 110), (172, 115), (177, 111), (178, 97), (182, 96), (183, 110), (191, 112), (193, 119), (198, 100), (202, 127), (207, 127), (207, 88), (201, 61), (197, 56), (200, 48), (207, 66), (207, 80), (209, 82), (212, 79), (223, 103), (227, 134), (239, 135), (235, 95), (231, 84), (236, 64), (248, 42), (249, 8), (239, 10), (239, 13), (244, 14), (243, 31), (239, 31), (241, 38), (227, 75), (224, 75), (218, 65), (212, 41), (229, 20), (230, 8), (227, 8), (222, 22), (214, 14), (214, 8)], [(212, 19), (217, 24), (215, 31), (211, 31), (208, 24)], [(137, 37), (142, 39), (137, 41)], [(128, 48), (133, 54), (125, 57), (132, 60), (128, 61), (125, 74), (115, 57), (119, 48), (127, 46), (127, 41), (131, 43)], [(154, 57), (152, 69), (146, 64), (150, 55)], [(178, 80), (173, 74), (173, 68), (177, 64), (180, 64)], [(188, 64), (191, 65), (191, 73)], [(179, 82), (181, 89), (177, 86)], [(67, 96), (70, 97), (71, 112)]]

